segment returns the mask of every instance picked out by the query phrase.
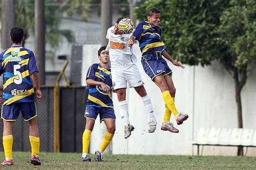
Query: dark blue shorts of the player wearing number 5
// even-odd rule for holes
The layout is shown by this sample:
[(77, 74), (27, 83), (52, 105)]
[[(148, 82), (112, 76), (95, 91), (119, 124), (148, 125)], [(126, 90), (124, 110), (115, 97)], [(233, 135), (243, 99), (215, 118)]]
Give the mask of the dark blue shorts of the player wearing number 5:
[(1, 118), (5, 121), (16, 121), (19, 117), (19, 112), (25, 121), (33, 119), (37, 116), (36, 103), (13, 103), (2, 106)]

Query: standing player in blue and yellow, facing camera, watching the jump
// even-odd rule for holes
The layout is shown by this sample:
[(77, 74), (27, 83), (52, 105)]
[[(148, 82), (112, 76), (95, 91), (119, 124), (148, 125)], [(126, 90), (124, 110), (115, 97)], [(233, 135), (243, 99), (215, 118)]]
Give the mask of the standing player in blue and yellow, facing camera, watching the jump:
[[(83, 154), (82, 161), (91, 161), (88, 155), (89, 142), (95, 120), (99, 114), (100, 123), (104, 121), (107, 132), (103, 144), (95, 152), (95, 160), (102, 161), (103, 152), (109, 146), (116, 131), (116, 115), (113, 110), (113, 101), (111, 96), (112, 78), (109, 65), (109, 52), (106, 46), (98, 50), (100, 63), (92, 64), (87, 71), (86, 84), (89, 96), (86, 103), (84, 117), (86, 118), (85, 131), (83, 134)], [(113, 91), (114, 92), (114, 91)]]

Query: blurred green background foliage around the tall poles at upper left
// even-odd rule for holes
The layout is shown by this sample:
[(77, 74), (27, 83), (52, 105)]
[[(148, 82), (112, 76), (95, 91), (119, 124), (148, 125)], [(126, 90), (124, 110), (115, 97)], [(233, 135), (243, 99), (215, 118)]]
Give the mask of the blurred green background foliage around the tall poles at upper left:
[[(58, 5), (53, 5), (53, 0), (45, 0), (45, 23), (46, 23), (46, 44), (49, 44), (53, 50), (48, 51), (54, 54), (59, 46), (62, 37), (66, 38), (68, 42), (73, 42), (73, 35), (70, 30), (60, 30), (59, 24), (61, 15), (56, 13)], [(2, 3), (1, 3), (2, 4)], [(35, 1), (33, 0), (16, 0), (15, 1), (15, 15), (16, 25), (24, 29), (26, 38), (30, 33), (35, 33)]]

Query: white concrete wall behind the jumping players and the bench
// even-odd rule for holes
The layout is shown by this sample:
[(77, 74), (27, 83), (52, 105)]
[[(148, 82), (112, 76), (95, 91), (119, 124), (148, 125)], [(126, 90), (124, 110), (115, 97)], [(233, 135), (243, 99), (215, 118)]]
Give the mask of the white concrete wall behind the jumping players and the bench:
[[(82, 68), (82, 82), (85, 85), (85, 77), (88, 67), (98, 62), (97, 50), (100, 45), (84, 45), (84, 57)], [(126, 99), (129, 104), (129, 113), (135, 130), (131, 137), (124, 139), (124, 127), (119, 115), (118, 100), (113, 93), (114, 110), (116, 112), (116, 133), (112, 140), (113, 154), (168, 154), (191, 155), (196, 153), (196, 147), (192, 148), (192, 141), (196, 139), (200, 127), (237, 127), (237, 108), (235, 104), (234, 81), (231, 75), (218, 62), (211, 66), (186, 66), (185, 69), (173, 66), (173, 81), (176, 86), (176, 107), (179, 112), (189, 115), (188, 120), (182, 125), (177, 125), (174, 116), (171, 122), (179, 129), (174, 134), (161, 131), (160, 126), (164, 118), (164, 100), (161, 91), (151, 81), (140, 64), (140, 51), (138, 44), (134, 45), (134, 51), (138, 57), (138, 68), (142, 75), (144, 86), (152, 99), (158, 121), (156, 132), (147, 132), (149, 121), (146, 108), (134, 89), (127, 89)], [(256, 129), (256, 69), (253, 68), (248, 76), (247, 83), (242, 89), (242, 112), (245, 128)], [(91, 153), (95, 152), (103, 141), (105, 134), (104, 125), (97, 121), (92, 132), (90, 142)], [(249, 148), (248, 154), (256, 156), (256, 149)], [(236, 155), (237, 147), (204, 147), (203, 155)]]

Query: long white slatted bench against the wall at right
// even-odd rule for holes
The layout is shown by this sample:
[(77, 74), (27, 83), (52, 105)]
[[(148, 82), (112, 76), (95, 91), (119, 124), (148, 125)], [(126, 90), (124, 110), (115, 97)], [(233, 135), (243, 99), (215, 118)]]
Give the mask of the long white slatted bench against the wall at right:
[(193, 142), (197, 145), (197, 155), (199, 155), (199, 146), (201, 155), (205, 145), (208, 146), (245, 146), (247, 154), (248, 147), (256, 147), (256, 131), (245, 128), (200, 128), (197, 139)]

